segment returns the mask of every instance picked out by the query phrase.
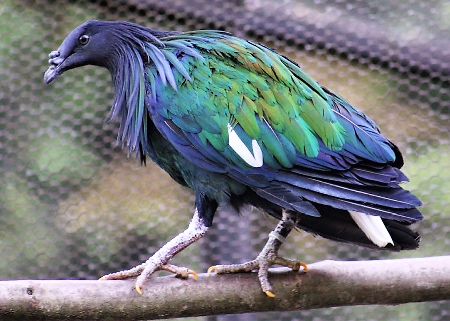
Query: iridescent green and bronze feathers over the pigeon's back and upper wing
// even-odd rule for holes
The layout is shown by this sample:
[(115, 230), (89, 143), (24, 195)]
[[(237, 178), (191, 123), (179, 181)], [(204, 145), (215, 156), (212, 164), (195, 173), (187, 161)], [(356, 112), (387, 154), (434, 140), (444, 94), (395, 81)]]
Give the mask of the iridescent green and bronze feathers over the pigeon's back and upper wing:
[[(337, 122), (331, 101), (289, 59), (262, 45), (213, 31), (173, 35), (162, 42), (166, 47), (161, 52), (179, 73), (171, 79), (167, 64), (157, 69), (165, 74), (161, 79), (165, 90), (158, 99), (167, 102), (163, 103), (170, 110), (166, 114), (179, 116), (174, 122), (180, 128), (197, 132), (201, 141), (210, 142), (233, 163), (242, 165), (242, 160), (236, 160), (227, 146), (228, 123), (241, 126), (249, 139), (241, 138), (250, 150), (251, 139), (256, 139), (265, 159), (269, 153), (285, 167), (293, 165), (295, 150), (316, 157), (320, 140), (336, 151), (345, 143), (345, 130)], [(179, 59), (177, 51), (183, 46), (197, 51), (202, 59), (194, 54)], [(155, 55), (151, 58), (161, 59)], [(157, 90), (149, 78), (151, 88)], [(205, 117), (208, 111), (217, 113)], [(286, 147), (286, 141), (295, 150)]]

